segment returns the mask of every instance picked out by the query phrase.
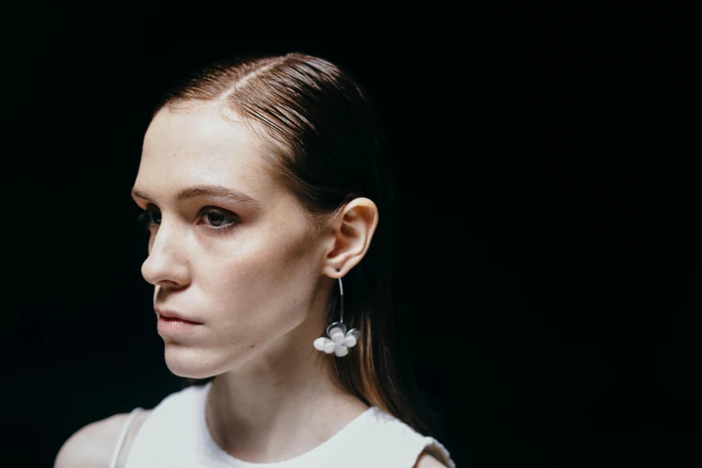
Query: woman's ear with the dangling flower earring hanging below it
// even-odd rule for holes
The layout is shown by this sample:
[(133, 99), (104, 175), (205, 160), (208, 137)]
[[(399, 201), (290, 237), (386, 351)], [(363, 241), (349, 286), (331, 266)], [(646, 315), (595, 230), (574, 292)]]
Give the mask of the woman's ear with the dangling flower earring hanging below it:
[(377, 220), (377, 206), (372, 200), (359, 197), (345, 204), (331, 221), (329, 249), (322, 273), (330, 278), (341, 278), (349, 273), (366, 255)]

